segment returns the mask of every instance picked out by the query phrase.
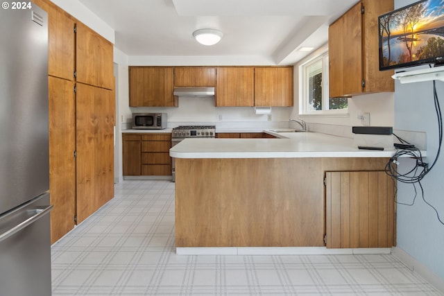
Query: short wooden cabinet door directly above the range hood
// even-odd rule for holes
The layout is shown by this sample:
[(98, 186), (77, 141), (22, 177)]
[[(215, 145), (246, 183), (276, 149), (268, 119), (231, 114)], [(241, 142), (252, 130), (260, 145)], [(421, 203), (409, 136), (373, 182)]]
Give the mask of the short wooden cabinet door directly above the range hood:
[(174, 86), (176, 87), (214, 87), (216, 68), (214, 67), (175, 67)]

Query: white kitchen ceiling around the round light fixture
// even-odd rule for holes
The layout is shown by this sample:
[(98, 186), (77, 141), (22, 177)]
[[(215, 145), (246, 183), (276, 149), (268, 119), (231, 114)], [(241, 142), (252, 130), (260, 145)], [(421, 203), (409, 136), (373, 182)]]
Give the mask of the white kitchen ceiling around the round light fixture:
[[(79, 0), (115, 31), (128, 56), (257, 56), (293, 64), (327, 42), (328, 25), (358, 0)], [(106, 4), (105, 4), (106, 3)], [(204, 46), (192, 33), (223, 32)]]

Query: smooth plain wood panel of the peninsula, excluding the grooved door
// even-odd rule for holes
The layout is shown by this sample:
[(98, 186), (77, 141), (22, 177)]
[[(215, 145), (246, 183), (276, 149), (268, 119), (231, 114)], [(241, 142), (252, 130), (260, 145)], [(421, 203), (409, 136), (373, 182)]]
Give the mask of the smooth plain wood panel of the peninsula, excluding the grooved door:
[(377, 171), (387, 161), (176, 158), (176, 246), (323, 246), (325, 171)]

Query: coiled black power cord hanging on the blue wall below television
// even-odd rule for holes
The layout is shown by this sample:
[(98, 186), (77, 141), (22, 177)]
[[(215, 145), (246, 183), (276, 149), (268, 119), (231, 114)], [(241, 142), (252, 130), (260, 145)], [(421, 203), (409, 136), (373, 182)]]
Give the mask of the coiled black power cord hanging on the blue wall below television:
[[(385, 171), (386, 171), (387, 175), (393, 177), (395, 180), (398, 180), (399, 182), (413, 184), (413, 188), (415, 189), (415, 196), (413, 198), (413, 201), (410, 204), (402, 203), (402, 202), (398, 202), (398, 201), (396, 203), (404, 204), (407, 206), (413, 206), (413, 204), (415, 203), (415, 200), (416, 200), (416, 195), (417, 195), (415, 184), (418, 183), (420, 186), (420, 189), (421, 189), (421, 193), (422, 193), (422, 200), (424, 200), (424, 202), (427, 205), (429, 205), (429, 207), (432, 207), (432, 209), (436, 213), (436, 216), (438, 217), (439, 223), (444, 225), (443, 220), (439, 216), (438, 210), (436, 210), (436, 208), (432, 204), (430, 204), (429, 202), (427, 202), (427, 200), (425, 200), (424, 189), (422, 188), (422, 184), (421, 184), (421, 180), (425, 177), (425, 175), (427, 175), (427, 173), (429, 173), (429, 171), (432, 170), (432, 168), (435, 166), (436, 162), (438, 161), (438, 157), (441, 153), (441, 146), (443, 143), (443, 116), (441, 114), (441, 106), (439, 105), (438, 94), (436, 93), (436, 81), (435, 80), (433, 80), (433, 91), (434, 91), (433, 93), (434, 93), (434, 105), (435, 105), (435, 111), (436, 111), (436, 118), (438, 119), (438, 150), (436, 152), (436, 157), (435, 157), (434, 161), (432, 162), (432, 165), (429, 166), (426, 162), (422, 162), (421, 151), (418, 148), (409, 147), (409, 148), (397, 150), (395, 155), (393, 155), (393, 157), (391, 157), (391, 159), (386, 164)], [(395, 135), (395, 134), (393, 134), (393, 135), (396, 138), (398, 138), (398, 140), (401, 143), (409, 144), (407, 141), (404, 141), (403, 139), (401, 139), (397, 135)], [(400, 172), (398, 172), (398, 164), (399, 164), (398, 158), (399, 157), (409, 157), (411, 159), (415, 159), (416, 162), (413, 165), (413, 167), (411, 168), (411, 170), (407, 171), (406, 173), (400, 173)]]

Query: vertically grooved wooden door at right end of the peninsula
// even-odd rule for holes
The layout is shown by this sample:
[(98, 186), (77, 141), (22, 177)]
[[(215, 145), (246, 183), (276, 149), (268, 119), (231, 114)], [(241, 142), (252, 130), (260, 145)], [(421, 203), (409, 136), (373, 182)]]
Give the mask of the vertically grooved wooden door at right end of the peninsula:
[(327, 172), (327, 247), (395, 245), (394, 186), (384, 171)]

